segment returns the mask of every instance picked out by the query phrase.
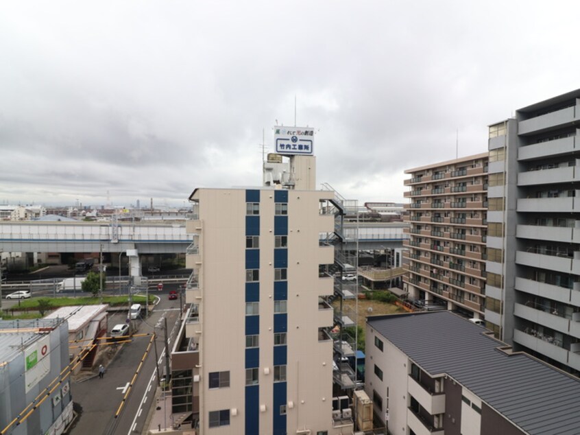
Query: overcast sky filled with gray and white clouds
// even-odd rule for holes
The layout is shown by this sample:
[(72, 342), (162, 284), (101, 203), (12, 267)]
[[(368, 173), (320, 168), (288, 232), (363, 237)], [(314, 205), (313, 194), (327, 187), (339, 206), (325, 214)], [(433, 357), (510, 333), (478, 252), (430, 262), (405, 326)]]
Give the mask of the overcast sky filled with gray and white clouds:
[[(317, 184), (402, 202), (404, 169), (580, 88), (577, 1), (3, 1), (0, 204), (186, 204), (261, 185), (276, 119)], [(267, 151), (268, 151), (267, 150)]]

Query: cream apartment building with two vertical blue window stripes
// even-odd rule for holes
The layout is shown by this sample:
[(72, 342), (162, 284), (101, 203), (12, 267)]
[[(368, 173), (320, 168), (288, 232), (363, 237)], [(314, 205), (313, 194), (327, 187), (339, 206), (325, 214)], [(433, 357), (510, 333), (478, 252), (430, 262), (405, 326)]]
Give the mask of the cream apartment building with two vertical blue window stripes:
[(191, 367), (178, 368), (189, 370), (193, 397), (184, 400), (200, 434), (352, 434), (352, 419), (333, 419), (333, 379), (344, 388), (354, 380), (333, 360), (330, 329), (345, 320), (330, 301), (341, 279), (328, 272), (335, 244), (321, 242), (339, 242), (341, 213), (334, 192), (313, 190), (314, 167), (313, 156), (293, 156), (291, 189), (195, 189), (189, 198)]

